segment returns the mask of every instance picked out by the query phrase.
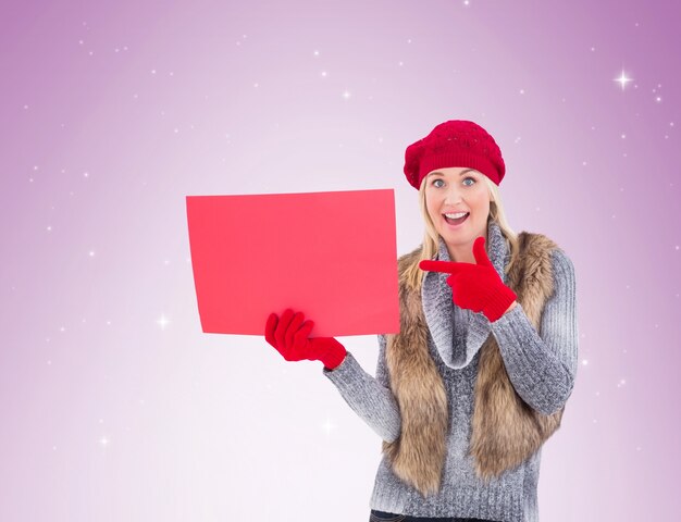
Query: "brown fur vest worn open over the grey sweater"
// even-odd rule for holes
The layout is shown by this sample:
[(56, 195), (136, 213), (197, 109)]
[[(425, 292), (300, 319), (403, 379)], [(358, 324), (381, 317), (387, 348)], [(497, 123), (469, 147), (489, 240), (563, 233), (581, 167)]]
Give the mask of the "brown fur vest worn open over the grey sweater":
[[(528, 232), (519, 234), (518, 243), (519, 258), (507, 285), (538, 332), (544, 303), (553, 294), (550, 252), (557, 245)], [(405, 278), (421, 248), (398, 260), (400, 332), (387, 335), (385, 358), (401, 431), (395, 442), (383, 442), (383, 452), (393, 472), (425, 497), (439, 489), (449, 419), (445, 385), (429, 352), (421, 293), (410, 289)], [(480, 348), (474, 394), (469, 453), (484, 481), (523, 462), (560, 426), (564, 409), (545, 415), (517, 394), (492, 333)]]

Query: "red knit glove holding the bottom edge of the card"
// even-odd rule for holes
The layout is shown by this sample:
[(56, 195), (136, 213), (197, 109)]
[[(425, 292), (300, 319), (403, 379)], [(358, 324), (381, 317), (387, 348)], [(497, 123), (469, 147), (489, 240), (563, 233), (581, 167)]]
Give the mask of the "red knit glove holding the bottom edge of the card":
[(286, 309), (280, 319), (271, 313), (264, 327), (264, 338), (287, 361), (322, 361), (324, 366), (333, 370), (345, 359), (346, 349), (333, 337), (308, 338), (314, 322), (302, 322), (302, 312), (294, 314)]

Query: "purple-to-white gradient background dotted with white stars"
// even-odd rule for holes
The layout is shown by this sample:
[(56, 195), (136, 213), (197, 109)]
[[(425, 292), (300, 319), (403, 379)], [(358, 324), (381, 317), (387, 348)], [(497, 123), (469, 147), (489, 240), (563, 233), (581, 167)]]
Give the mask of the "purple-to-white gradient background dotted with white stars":
[[(404, 253), (404, 149), (449, 119), (495, 136), (512, 226), (577, 270), (542, 520), (678, 518), (674, 2), (3, 11), (0, 520), (367, 520), (380, 439), (321, 365), (200, 332), (185, 196), (395, 188)], [(375, 336), (343, 341), (373, 373)]]

